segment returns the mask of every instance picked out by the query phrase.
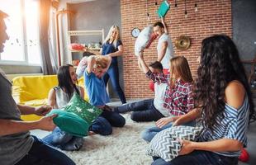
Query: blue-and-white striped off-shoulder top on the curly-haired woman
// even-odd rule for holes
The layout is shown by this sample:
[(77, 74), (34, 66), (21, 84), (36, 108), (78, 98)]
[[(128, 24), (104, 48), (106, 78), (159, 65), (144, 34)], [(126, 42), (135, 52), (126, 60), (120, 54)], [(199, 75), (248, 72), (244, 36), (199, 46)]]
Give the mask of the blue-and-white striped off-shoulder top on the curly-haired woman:
[[(249, 123), (248, 97), (246, 96), (244, 98), (243, 106), (239, 107), (239, 109), (235, 109), (234, 107), (225, 103), (225, 110), (223, 114), (224, 117), (222, 120), (220, 118), (220, 115), (217, 116), (216, 123), (218, 123), (219, 125), (214, 125), (212, 132), (207, 129), (204, 122), (202, 122), (202, 126), (204, 127), (204, 129), (201, 133), (199, 140), (212, 141), (217, 139), (235, 139), (238, 140), (240, 143), (244, 144), (244, 147), (246, 147), (246, 132)], [(202, 117), (204, 117), (204, 113), (202, 113)], [(215, 153), (228, 157), (239, 157), (240, 155), (240, 151)]]

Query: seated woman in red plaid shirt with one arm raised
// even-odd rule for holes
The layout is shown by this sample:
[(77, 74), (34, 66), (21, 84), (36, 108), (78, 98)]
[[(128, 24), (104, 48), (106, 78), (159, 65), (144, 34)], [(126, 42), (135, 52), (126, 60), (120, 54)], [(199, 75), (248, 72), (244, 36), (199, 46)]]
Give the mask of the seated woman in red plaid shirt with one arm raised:
[[(157, 120), (155, 127), (143, 131), (142, 138), (150, 142), (155, 134), (171, 127), (171, 122), (176, 120), (179, 115), (187, 114), (187, 112), (193, 109), (193, 79), (187, 59), (183, 56), (177, 56), (170, 59), (171, 72), (168, 75), (164, 75), (163, 73), (152, 73), (147, 64), (145, 64), (143, 53), (140, 53), (139, 63), (147, 78), (158, 83), (168, 83), (164, 95), (163, 106), (168, 110), (169, 116)], [(189, 122), (185, 125), (193, 124), (194, 122)]]

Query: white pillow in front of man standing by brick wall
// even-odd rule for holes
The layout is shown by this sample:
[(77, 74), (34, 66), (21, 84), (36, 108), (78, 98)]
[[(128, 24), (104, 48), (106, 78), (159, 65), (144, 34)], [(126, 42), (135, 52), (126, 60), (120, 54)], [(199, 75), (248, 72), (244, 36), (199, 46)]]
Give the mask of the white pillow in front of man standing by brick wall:
[(144, 50), (148, 45), (150, 36), (153, 33), (152, 26), (146, 26), (142, 31), (140, 31), (140, 35), (135, 41), (135, 55), (139, 56), (141, 50)]

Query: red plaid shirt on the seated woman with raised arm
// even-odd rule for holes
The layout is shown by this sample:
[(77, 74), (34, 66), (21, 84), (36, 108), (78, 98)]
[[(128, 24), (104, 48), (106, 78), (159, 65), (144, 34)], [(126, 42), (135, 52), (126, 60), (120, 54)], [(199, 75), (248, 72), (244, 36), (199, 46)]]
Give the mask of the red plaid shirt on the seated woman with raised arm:
[[(146, 77), (158, 83), (168, 83), (169, 74), (146, 73)], [(176, 80), (175, 86), (170, 87), (169, 83), (164, 94), (164, 107), (167, 108), (172, 115), (184, 115), (191, 111), (194, 107), (192, 97), (192, 82), (183, 82)]]

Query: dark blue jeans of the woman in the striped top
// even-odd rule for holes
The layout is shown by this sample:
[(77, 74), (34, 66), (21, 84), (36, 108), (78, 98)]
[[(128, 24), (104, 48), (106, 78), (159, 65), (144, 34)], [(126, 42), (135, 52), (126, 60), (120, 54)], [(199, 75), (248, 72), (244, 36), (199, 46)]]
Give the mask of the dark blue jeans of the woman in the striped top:
[(193, 151), (187, 155), (182, 155), (174, 158), (171, 162), (165, 162), (162, 158), (154, 158), (154, 163), (151, 165), (236, 165), (238, 158), (225, 157), (210, 151)]

